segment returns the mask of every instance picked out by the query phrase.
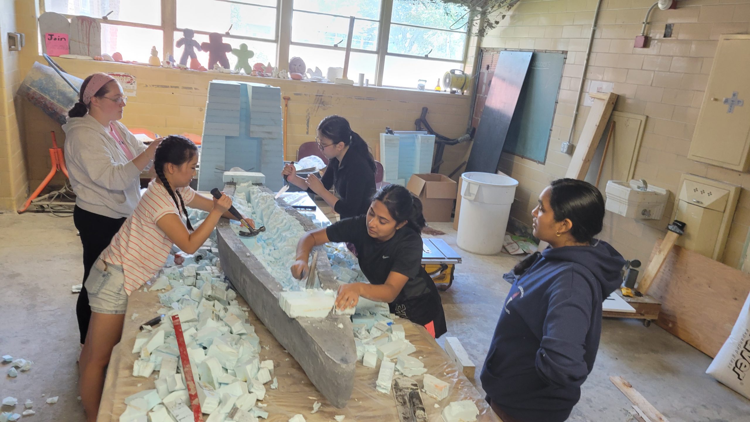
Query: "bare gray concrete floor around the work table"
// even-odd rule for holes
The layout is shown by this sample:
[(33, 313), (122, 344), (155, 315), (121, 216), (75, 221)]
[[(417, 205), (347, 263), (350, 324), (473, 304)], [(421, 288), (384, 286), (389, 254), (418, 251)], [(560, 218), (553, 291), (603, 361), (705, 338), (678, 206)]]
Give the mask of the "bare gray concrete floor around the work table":
[[(433, 225), (455, 246), (448, 223)], [(449, 336), (457, 336), (477, 365), (478, 374), (499, 316), (508, 285), (500, 277), (517, 261), (509, 255), (491, 257), (461, 252), (452, 288), (443, 293)], [(0, 214), (0, 355), (34, 360), (17, 378), (0, 365), (0, 398), (16, 397), (23, 411), (34, 401), (31, 422), (80, 421), (77, 400), (78, 330), (74, 312), (77, 295), (71, 285), (83, 273), (81, 246), (72, 218), (48, 214)], [(441, 341), (442, 343), (442, 341)], [(604, 321), (601, 346), (592, 374), (570, 420), (628, 420), (630, 402), (610, 384), (622, 375), (671, 422), (741, 422), (750, 420), (750, 401), (714, 381), (704, 371), (710, 358), (674, 336), (638, 321)], [(44, 401), (59, 396), (57, 404)]]

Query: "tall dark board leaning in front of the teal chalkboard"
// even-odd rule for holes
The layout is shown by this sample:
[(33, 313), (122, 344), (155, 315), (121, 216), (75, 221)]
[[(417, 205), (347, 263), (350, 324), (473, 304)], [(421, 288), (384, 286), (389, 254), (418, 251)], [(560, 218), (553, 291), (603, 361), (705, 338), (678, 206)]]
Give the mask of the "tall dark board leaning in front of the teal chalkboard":
[[(502, 146), (508, 136), (532, 53), (529, 51), (501, 51), (484, 102), (478, 128), (472, 144), (466, 171), (495, 173)], [(607, 115), (608, 116), (608, 115)]]

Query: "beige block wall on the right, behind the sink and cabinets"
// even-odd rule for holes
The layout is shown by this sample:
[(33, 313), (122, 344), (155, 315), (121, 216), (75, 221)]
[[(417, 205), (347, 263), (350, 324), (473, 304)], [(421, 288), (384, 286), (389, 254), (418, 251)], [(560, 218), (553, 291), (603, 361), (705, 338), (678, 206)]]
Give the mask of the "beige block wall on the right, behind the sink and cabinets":
[[(583, 60), (596, 0), (520, 0), (481, 41), (485, 49), (568, 53), (547, 161), (540, 164), (505, 153), (500, 159), (499, 170), (519, 181), (511, 217), (530, 225), (538, 194), (550, 180), (565, 175), (571, 156), (559, 152), (560, 143), (567, 140), (572, 124), (577, 142), (589, 111), (581, 107), (573, 122), (580, 77), (584, 77), (584, 87), (592, 80), (607, 81), (619, 94), (615, 110), (648, 116), (635, 178), (667, 188), (671, 195), (661, 221), (634, 221), (607, 213), (601, 239), (612, 243), (625, 258), (648, 261), (655, 241), (664, 237), (679, 177), (692, 173), (742, 186), (723, 259), (736, 267), (742, 262), (750, 225), (750, 174), (691, 161), (687, 155), (718, 37), (748, 33), (750, 0), (683, 0), (676, 10), (657, 9), (649, 19), (649, 48), (634, 48), (634, 38), (652, 4), (652, 0), (602, 2), (585, 75)], [(664, 38), (666, 23), (674, 24), (671, 38)]]

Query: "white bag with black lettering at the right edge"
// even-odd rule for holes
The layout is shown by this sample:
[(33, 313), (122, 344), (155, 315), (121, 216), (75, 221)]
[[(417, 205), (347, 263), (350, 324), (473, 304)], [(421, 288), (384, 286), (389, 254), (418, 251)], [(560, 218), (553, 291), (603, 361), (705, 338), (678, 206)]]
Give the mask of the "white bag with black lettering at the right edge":
[(750, 294), (706, 374), (750, 399)]

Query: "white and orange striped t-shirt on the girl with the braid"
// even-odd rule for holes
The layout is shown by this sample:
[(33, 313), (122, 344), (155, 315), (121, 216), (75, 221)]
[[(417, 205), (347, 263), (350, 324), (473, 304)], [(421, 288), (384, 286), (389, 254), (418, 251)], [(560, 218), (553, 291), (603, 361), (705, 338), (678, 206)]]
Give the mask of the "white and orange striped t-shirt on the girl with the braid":
[[(195, 197), (195, 191), (190, 186), (177, 190), (186, 205)], [(104, 261), (122, 266), (128, 296), (166, 264), (173, 243), (156, 222), (167, 214), (177, 214), (184, 219), (181, 209), (166, 188), (157, 182), (148, 183), (148, 190), (141, 197), (133, 215), (125, 220), (110, 246), (100, 255)]]

